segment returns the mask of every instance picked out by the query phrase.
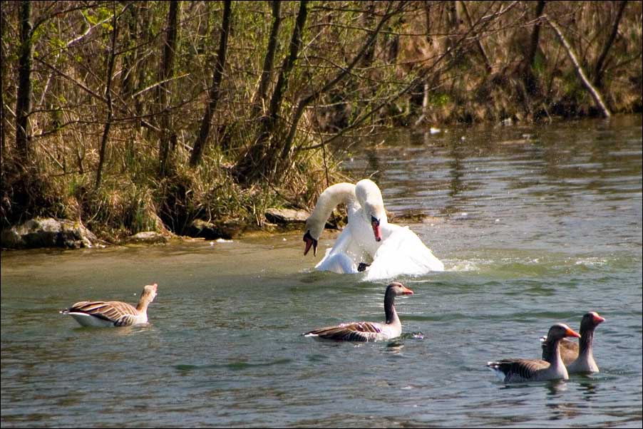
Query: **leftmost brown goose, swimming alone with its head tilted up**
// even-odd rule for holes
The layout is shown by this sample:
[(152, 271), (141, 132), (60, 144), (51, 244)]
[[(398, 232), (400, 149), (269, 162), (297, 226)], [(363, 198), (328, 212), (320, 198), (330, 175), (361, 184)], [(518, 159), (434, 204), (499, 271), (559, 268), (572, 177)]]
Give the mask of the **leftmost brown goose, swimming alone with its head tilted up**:
[(157, 284), (148, 284), (136, 307), (121, 301), (81, 301), (61, 314), (69, 314), (82, 326), (130, 326), (148, 323), (148, 305), (156, 296)]

